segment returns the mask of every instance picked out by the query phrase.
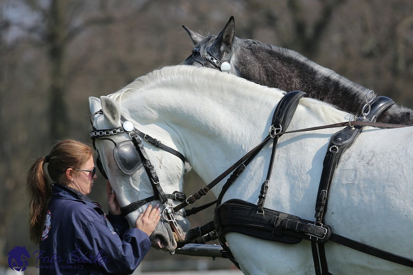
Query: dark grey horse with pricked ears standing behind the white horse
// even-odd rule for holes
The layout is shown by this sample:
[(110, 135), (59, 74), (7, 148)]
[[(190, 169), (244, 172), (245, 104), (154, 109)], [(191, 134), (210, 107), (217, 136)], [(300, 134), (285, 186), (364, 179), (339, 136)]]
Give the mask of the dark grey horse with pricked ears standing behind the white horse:
[[(223, 71), (284, 91), (304, 91), (309, 97), (328, 102), (355, 115), (361, 113), (361, 108), (366, 103), (369, 89), (301, 54), (257, 40), (236, 37), (233, 16), (218, 35), (209, 34), (205, 37), (183, 27), (195, 47), (184, 65), (220, 69), (220, 65), (224, 63)], [(413, 110), (394, 104), (377, 121), (413, 125)]]

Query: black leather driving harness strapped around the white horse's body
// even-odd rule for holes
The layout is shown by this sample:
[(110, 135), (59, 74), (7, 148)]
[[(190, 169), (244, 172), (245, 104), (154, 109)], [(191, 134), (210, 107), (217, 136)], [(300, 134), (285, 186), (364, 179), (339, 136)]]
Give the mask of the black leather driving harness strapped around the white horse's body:
[[(223, 250), (221, 251), (224, 258), (230, 259), (238, 268), (239, 264), (232, 255), (229, 247), (226, 245), (224, 234), (227, 232), (238, 232), (241, 234), (249, 235), (259, 239), (277, 241), (282, 243), (299, 243), (301, 240), (308, 240), (311, 242), (312, 256), (314, 260), (315, 274), (329, 274), (327, 268), (327, 259), (324, 250), (324, 243), (327, 241), (333, 241), (335, 243), (342, 244), (344, 246), (356, 249), (358, 251), (367, 253), (396, 262), (398, 264), (413, 267), (413, 259), (397, 256), (392, 253), (388, 253), (377, 249), (375, 247), (359, 243), (343, 236), (337, 235), (331, 232), (331, 227), (324, 223), (324, 213), (327, 209), (327, 201), (331, 181), (334, 176), (334, 170), (340, 160), (344, 151), (351, 146), (356, 137), (361, 133), (364, 126), (375, 126), (382, 128), (399, 128), (405, 127), (404, 125), (389, 125), (384, 123), (375, 123), (377, 116), (388, 107), (394, 104), (394, 101), (388, 97), (371, 97), (372, 93), (369, 93), (366, 97), (366, 104), (362, 108), (361, 117), (348, 123), (338, 123), (327, 125), (323, 127), (313, 127), (308, 129), (299, 129), (293, 131), (285, 131), (288, 124), (291, 121), (295, 108), (300, 97), (304, 96), (302, 92), (290, 92), (282, 98), (277, 109), (275, 110), (273, 124), (270, 127), (270, 133), (264, 141), (256, 146), (253, 150), (248, 152), (240, 161), (236, 162), (228, 170), (234, 171), (232, 175), (227, 179), (224, 187), (216, 201), (217, 207), (215, 209), (214, 220), (206, 224), (205, 226), (199, 226), (189, 230), (187, 233), (187, 240), (189, 243), (206, 243), (211, 239), (218, 238)], [(276, 120), (275, 118), (280, 118)], [(315, 221), (309, 221), (300, 217), (264, 208), (265, 196), (268, 189), (268, 179), (271, 176), (271, 167), (274, 160), (275, 147), (277, 143), (277, 137), (285, 133), (302, 132), (316, 129), (326, 129), (332, 127), (343, 127), (343, 130), (335, 133), (329, 142), (327, 154), (323, 164), (322, 178), (320, 180), (319, 191), (317, 194), (316, 207), (315, 207)], [(284, 131), (282, 131), (284, 129)], [(268, 142), (269, 138), (274, 138), (272, 155), (270, 159), (269, 172), (267, 173), (267, 179), (263, 182), (258, 196), (257, 205), (240, 200), (231, 199), (224, 203), (221, 203), (224, 193), (229, 186), (235, 181), (236, 178), (242, 173), (246, 165), (255, 157), (258, 151), (262, 148), (264, 143)], [(234, 167), (235, 166), (235, 167)], [(217, 179), (207, 185), (206, 191), (211, 188), (210, 185), (216, 183), (217, 180), (222, 180), (229, 175), (230, 172), (225, 171)], [(199, 194), (204, 192), (197, 192), (198, 196), (191, 196), (199, 198)], [(197, 194), (195, 193), (195, 194)], [(194, 201), (196, 199), (188, 200)], [(188, 201), (187, 200), (187, 201)], [(185, 207), (186, 202), (175, 207)], [(203, 207), (200, 207), (200, 209)], [(189, 210), (187, 210), (188, 212)], [(197, 212), (197, 209), (190, 210), (191, 212)], [(188, 214), (187, 214), (188, 216)], [(212, 228), (212, 229), (211, 229)], [(213, 230), (213, 231), (212, 231)], [(212, 232), (210, 232), (212, 231)]]

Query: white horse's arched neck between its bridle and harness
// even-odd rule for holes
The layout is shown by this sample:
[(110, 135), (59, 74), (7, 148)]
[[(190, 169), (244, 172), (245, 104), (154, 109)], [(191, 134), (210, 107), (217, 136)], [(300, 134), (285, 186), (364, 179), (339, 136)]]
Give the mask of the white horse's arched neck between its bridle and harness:
[[(216, 70), (175, 66), (139, 78), (114, 97), (140, 129), (160, 140), (172, 138), (193, 169), (209, 182), (267, 136), (283, 93)], [(300, 102), (289, 129), (344, 119), (343, 112), (325, 103), (308, 98)], [(310, 110), (309, 103), (318, 106)], [(329, 119), (314, 110), (329, 112)], [(251, 187), (247, 193), (256, 189)]]

